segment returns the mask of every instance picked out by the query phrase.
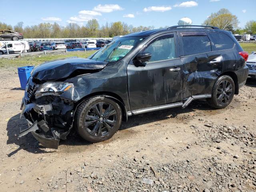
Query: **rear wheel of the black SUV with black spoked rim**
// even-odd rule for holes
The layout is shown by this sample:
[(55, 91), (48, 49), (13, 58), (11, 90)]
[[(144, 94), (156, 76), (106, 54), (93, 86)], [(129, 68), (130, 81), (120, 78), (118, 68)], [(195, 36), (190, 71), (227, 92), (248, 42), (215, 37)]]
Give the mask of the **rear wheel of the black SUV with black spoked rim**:
[(207, 99), (207, 102), (214, 108), (222, 109), (230, 104), (234, 94), (234, 80), (228, 75), (220, 76), (212, 88), (212, 98)]

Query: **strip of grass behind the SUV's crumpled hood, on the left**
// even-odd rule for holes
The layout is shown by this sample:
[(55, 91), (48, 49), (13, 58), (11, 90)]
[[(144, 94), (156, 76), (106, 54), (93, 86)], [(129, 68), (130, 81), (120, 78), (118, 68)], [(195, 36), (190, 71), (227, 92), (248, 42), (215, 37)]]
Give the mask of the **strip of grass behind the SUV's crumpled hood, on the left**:
[(28, 55), (22, 56), (21, 58), (0, 58), (0, 68), (9, 67), (22, 67), (22, 66), (37, 66), (41, 63), (51, 60), (57, 60), (67, 57), (82, 57), (87, 58), (95, 51), (71, 51), (71, 52), (59, 52), (59, 53), (49, 53), (41, 55)]

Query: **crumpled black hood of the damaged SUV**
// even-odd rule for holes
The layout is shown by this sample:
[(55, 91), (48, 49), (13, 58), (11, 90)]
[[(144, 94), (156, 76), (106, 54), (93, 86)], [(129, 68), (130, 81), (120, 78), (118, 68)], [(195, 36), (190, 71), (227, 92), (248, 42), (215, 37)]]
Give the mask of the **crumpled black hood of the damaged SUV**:
[(85, 58), (64, 58), (60, 60), (50, 61), (36, 66), (32, 72), (32, 78), (40, 81), (54, 81), (67, 78), (75, 71), (80, 74), (90, 73), (102, 70), (107, 62), (94, 61)]

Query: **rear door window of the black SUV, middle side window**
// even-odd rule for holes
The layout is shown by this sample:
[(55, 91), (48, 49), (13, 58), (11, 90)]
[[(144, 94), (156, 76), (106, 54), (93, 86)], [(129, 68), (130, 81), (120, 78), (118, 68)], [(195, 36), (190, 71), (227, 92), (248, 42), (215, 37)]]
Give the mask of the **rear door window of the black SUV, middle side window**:
[(180, 33), (184, 56), (211, 52), (211, 43), (204, 32)]

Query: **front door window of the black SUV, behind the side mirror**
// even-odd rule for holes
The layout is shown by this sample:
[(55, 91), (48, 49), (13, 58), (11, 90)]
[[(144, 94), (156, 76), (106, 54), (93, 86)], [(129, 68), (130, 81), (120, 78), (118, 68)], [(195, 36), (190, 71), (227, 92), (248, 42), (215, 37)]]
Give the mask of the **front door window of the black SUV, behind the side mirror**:
[(144, 51), (152, 54), (149, 61), (160, 61), (176, 58), (173, 35), (162, 36), (154, 40)]

